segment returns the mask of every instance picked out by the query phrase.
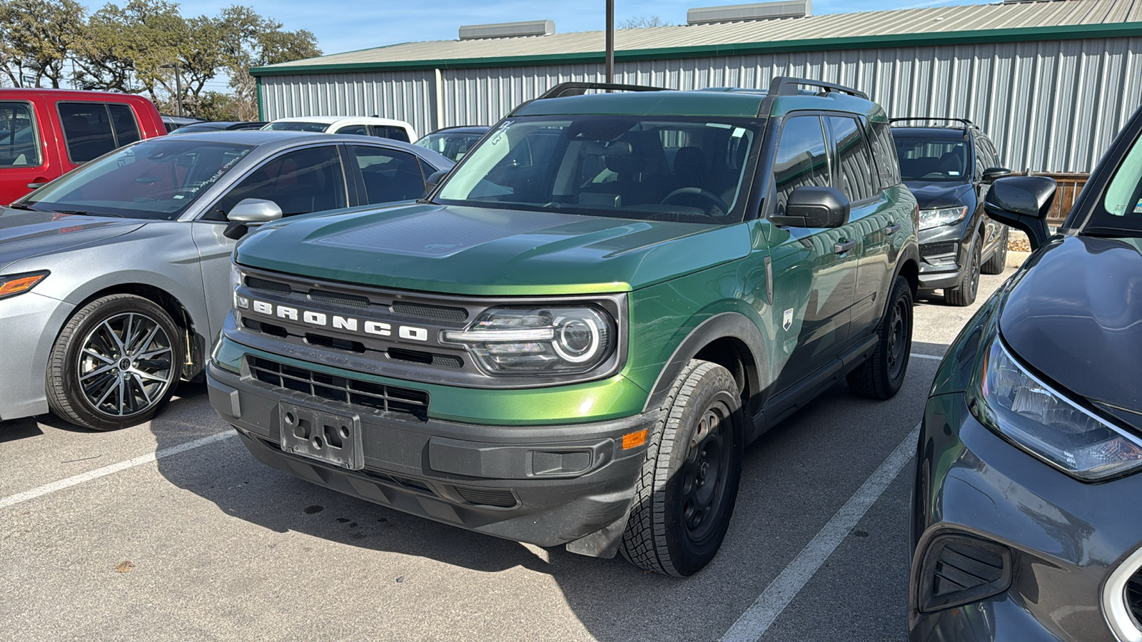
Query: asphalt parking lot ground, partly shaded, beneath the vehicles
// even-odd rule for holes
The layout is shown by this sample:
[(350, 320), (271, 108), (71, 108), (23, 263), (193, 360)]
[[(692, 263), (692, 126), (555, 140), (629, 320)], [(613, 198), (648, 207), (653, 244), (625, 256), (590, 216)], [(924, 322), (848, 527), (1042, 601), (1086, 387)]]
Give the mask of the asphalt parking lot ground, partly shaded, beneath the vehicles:
[(904, 640), (914, 428), (973, 310), (922, 298), (896, 398), (838, 385), (750, 446), (685, 580), (288, 478), (202, 385), (114, 433), (0, 423), (0, 640)]

